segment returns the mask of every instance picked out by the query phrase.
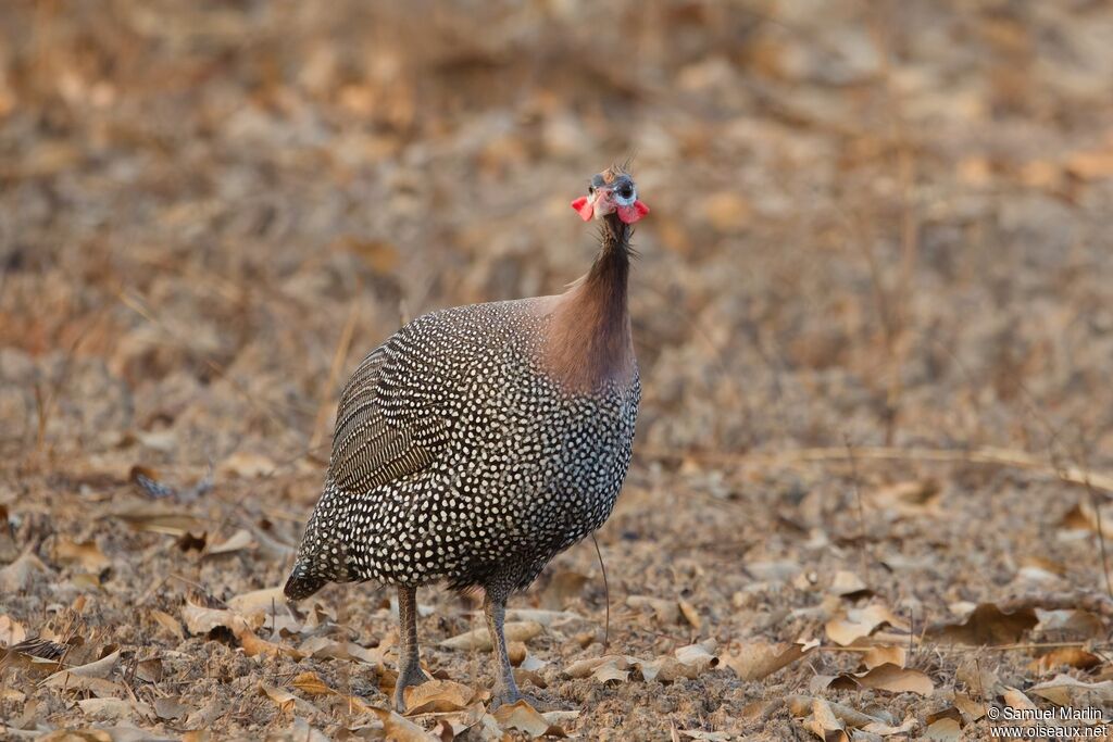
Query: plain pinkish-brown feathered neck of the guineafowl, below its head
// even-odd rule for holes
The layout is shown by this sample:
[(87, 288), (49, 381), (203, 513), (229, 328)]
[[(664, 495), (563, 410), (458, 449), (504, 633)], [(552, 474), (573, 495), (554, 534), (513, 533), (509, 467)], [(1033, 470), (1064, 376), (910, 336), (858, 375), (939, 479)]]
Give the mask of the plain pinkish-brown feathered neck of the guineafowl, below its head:
[(587, 392), (608, 380), (628, 383), (633, 343), (627, 309), (630, 227), (604, 217), (599, 255), (587, 276), (554, 297), (545, 365), (568, 388)]

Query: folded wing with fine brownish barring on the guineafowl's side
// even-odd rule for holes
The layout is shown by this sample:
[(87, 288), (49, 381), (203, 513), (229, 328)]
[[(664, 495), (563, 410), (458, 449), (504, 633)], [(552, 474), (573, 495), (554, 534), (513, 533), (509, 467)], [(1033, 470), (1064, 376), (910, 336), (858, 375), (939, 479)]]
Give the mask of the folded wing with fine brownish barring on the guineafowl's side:
[(364, 358), (341, 395), (329, 475), (342, 492), (363, 494), (420, 472), (447, 439), (451, 421), (413, 394), (397, 338)]

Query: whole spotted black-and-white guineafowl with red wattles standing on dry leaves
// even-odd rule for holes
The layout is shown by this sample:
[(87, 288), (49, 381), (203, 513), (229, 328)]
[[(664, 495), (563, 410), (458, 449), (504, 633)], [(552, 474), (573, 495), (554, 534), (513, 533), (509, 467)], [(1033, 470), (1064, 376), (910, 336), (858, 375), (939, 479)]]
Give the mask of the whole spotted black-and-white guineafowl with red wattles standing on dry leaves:
[(621, 167), (594, 176), (572, 207), (602, 222), (587, 276), (559, 296), (418, 317), (341, 397), (324, 492), (285, 592), (397, 586), (400, 710), (405, 689), (427, 680), (416, 588), (437, 581), (484, 590), (494, 703), (522, 698), (506, 598), (607, 521), (630, 465), (641, 387), (627, 278), (631, 225), (649, 209)]

